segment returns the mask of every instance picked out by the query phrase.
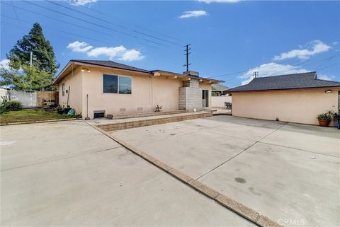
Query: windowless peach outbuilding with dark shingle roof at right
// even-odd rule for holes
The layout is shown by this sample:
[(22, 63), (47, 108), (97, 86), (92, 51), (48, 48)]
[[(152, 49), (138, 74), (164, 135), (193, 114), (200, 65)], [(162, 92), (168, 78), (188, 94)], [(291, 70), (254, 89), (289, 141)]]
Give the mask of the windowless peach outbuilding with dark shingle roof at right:
[(317, 73), (254, 78), (232, 88), (232, 115), (264, 120), (318, 124), (317, 115), (339, 112), (340, 83), (317, 78)]

